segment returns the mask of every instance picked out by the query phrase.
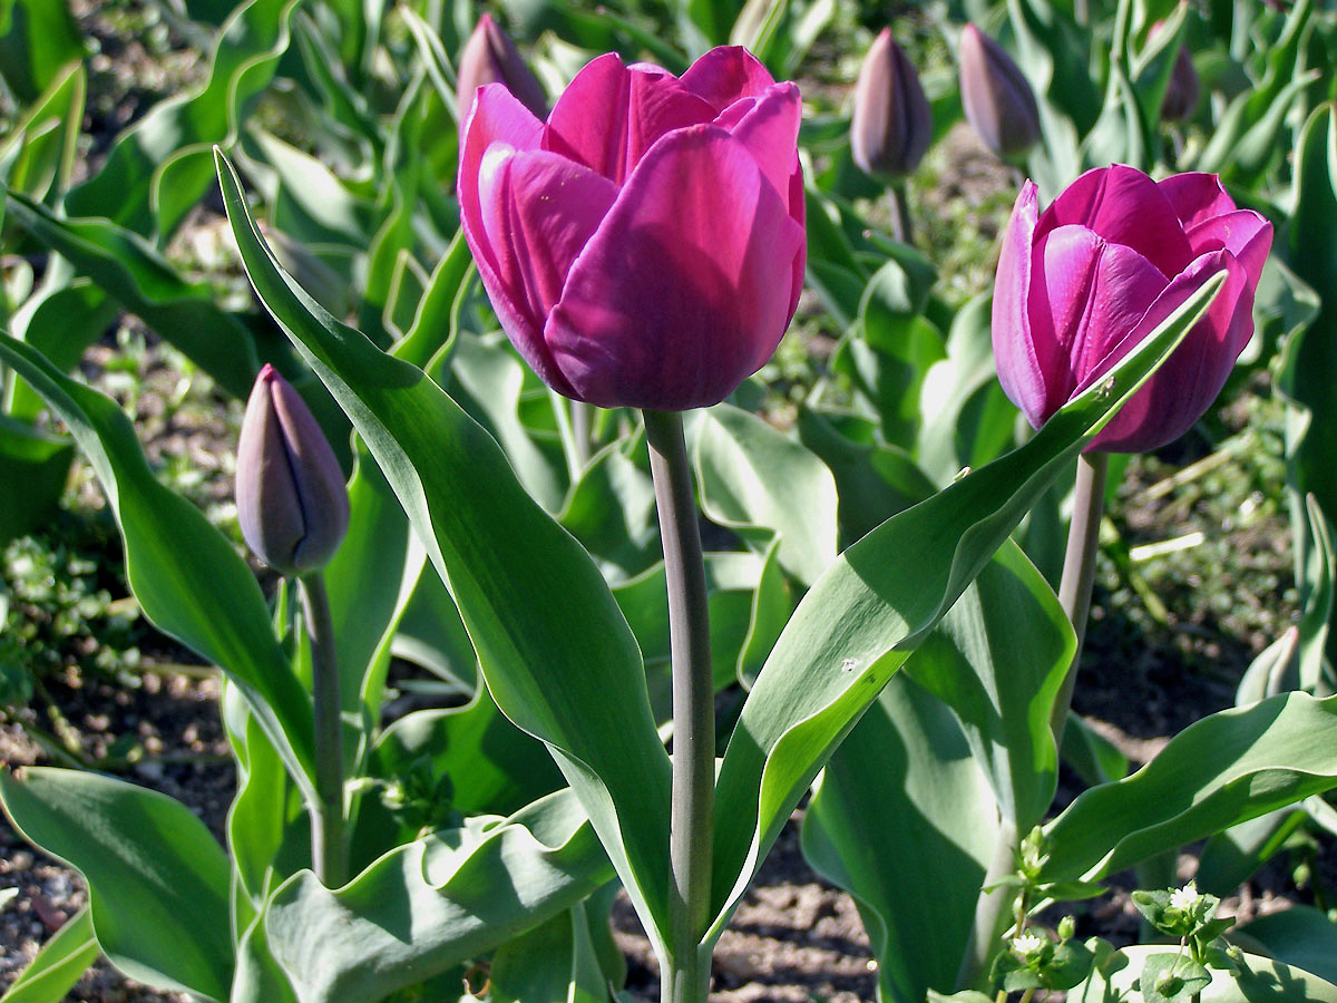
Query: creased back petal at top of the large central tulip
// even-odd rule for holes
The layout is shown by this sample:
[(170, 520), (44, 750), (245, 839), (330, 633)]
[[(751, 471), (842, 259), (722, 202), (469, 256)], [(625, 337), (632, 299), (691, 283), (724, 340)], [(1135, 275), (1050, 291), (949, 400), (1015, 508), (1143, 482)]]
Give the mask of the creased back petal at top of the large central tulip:
[(659, 136), (715, 118), (715, 110), (666, 70), (623, 66), (616, 53), (588, 63), (558, 99), (543, 147), (622, 185)]

